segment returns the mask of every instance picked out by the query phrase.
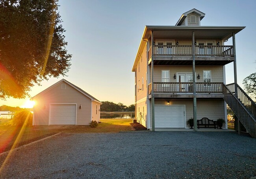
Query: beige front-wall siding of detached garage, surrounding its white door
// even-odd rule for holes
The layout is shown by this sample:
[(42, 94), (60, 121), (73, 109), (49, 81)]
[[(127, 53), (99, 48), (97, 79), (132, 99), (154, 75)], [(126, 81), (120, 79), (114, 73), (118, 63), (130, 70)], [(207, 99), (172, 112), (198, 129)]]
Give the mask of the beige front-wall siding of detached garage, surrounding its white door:
[[(66, 84), (66, 89), (61, 89), (61, 84)], [(91, 99), (65, 82), (37, 95), (33, 100), (36, 102), (34, 125), (48, 125), (50, 104), (77, 104), (76, 124), (89, 125), (91, 121)]]

